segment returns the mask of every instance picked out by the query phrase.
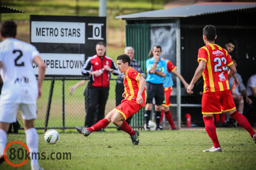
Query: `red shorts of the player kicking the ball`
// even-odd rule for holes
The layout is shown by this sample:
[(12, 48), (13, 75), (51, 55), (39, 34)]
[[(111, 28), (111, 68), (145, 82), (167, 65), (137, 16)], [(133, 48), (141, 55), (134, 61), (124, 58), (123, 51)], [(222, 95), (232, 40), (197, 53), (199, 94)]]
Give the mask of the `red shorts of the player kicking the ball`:
[(126, 120), (137, 113), (141, 108), (143, 108), (143, 106), (140, 104), (124, 99), (114, 110), (121, 113)]

